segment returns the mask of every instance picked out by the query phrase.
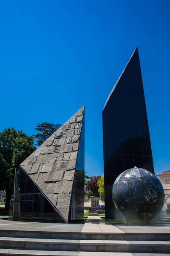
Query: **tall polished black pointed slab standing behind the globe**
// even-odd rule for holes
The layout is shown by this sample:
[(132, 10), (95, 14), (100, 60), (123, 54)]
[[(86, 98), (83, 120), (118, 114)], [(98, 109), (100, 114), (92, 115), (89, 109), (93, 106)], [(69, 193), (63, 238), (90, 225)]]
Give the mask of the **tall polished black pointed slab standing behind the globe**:
[(116, 177), (133, 166), (154, 173), (138, 49), (111, 93), (102, 120), (105, 218), (117, 218), (112, 200)]

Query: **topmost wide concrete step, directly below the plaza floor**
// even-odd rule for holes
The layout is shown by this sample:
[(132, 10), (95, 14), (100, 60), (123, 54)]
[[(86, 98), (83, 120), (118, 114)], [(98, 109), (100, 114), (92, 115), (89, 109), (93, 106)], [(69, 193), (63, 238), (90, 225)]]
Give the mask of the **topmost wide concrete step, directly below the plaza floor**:
[(80, 240), (132, 240), (132, 241), (170, 241), (170, 233), (98, 233), (0, 230), (1, 237), (37, 238), (37, 239), (80, 239)]

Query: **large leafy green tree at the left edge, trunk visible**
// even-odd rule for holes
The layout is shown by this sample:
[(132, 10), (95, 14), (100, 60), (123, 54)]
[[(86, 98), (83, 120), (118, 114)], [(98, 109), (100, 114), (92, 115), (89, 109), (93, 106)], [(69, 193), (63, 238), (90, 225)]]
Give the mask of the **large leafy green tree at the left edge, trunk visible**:
[(14, 170), (35, 149), (34, 137), (23, 131), (6, 128), (0, 132), (0, 190), (6, 190), (6, 210), (9, 210)]

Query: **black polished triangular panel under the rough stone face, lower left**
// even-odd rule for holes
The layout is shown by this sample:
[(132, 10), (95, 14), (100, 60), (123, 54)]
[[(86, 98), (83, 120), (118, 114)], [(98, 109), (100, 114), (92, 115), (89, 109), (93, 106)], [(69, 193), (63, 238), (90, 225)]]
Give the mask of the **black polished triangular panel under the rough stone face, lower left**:
[(63, 219), (23, 169), (20, 169), (21, 221), (61, 222)]

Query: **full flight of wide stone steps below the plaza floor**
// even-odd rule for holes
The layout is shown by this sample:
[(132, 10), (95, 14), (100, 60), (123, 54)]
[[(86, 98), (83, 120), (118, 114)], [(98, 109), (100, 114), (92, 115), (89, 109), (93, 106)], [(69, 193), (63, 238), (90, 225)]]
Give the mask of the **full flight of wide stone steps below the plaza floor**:
[(169, 233), (0, 230), (0, 236), (0, 256), (170, 255)]

